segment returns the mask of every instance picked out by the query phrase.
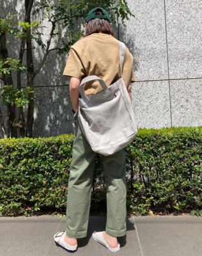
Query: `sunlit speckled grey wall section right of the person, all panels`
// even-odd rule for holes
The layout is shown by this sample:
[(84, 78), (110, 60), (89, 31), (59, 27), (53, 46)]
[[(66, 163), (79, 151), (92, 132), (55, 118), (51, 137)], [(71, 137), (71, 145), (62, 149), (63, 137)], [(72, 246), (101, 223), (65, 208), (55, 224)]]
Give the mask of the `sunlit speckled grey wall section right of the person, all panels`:
[(202, 2), (128, 1), (136, 17), (121, 30), (132, 50), (140, 127), (202, 125)]

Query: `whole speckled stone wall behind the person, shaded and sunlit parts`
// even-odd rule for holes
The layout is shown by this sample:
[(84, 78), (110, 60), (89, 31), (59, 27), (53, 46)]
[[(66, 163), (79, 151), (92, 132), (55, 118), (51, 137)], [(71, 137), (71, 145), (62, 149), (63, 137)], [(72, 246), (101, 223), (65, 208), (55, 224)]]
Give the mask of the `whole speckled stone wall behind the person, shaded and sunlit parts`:
[[(128, 0), (136, 17), (119, 26), (134, 56), (133, 107), (138, 127), (202, 125), (201, 0)], [(10, 45), (13, 51), (12, 44)], [(43, 52), (41, 52), (41, 55)], [(35, 56), (37, 60), (40, 54)], [(36, 77), (33, 137), (74, 132), (66, 55), (49, 55)]]

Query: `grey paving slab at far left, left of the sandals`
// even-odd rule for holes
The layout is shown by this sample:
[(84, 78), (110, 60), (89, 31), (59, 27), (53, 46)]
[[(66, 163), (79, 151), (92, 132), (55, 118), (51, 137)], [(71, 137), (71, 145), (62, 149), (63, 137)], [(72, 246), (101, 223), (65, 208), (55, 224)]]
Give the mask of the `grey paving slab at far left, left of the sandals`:
[(0, 256), (44, 256), (60, 222), (55, 216), (1, 217)]

